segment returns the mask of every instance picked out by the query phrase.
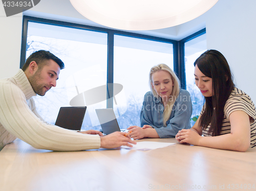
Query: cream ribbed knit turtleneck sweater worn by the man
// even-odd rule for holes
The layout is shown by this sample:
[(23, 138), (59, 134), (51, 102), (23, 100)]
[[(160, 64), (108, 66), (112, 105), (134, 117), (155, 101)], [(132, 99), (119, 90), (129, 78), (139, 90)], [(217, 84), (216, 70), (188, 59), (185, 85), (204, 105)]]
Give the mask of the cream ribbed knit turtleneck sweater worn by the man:
[(0, 80), (0, 150), (18, 137), (36, 149), (81, 151), (98, 149), (99, 135), (77, 133), (47, 124), (36, 111), (36, 96), (24, 71)]

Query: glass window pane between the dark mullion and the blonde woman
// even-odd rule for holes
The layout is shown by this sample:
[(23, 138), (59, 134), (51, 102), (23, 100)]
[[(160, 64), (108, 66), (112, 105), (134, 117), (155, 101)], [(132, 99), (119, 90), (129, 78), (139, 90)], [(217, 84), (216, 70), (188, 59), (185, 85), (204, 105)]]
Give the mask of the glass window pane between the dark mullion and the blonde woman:
[(140, 126), (143, 97), (150, 91), (148, 74), (152, 66), (165, 63), (173, 69), (173, 44), (126, 36), (114, 36), (114, 83), (123, 85), (121, 103), (114, 104), (119, 111), (121, 128)]

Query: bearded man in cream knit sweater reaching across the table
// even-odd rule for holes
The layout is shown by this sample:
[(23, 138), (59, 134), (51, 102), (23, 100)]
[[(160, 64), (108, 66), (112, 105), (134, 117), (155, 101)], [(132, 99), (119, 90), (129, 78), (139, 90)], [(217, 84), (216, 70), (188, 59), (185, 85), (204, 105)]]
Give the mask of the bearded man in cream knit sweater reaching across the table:
[(106, 136), (95, 130), (76, 132), (49, 125), (36, 111), (33, 97), (56, 86), (64, 63), (48, 51), (30, 55), (22, 69), (0, 80), (0, 150), (18, 137), (37, 149), (81, 151), (136, 144), (124, 132)]

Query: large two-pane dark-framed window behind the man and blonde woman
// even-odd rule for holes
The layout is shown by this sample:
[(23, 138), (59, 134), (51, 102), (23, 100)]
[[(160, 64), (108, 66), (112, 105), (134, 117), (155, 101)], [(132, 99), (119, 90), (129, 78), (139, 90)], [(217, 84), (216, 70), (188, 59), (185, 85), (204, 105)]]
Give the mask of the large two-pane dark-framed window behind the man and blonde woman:
[[(123, 89), (114, 95), (112, 105), (110, 100), (76, 104), (88, 107), (83, 130), (100, 129), (95, 109), (106, 107), (114, 108), (120, 127), (125, 129), (140, 126), (143, 96), (150, 90), (150, 68), (159, 63), (174, 68), (173, 43), (169, 39), (25, 16), (20, 66), (38, 50), (50, 51), (65, 63), (57, 86), (35, 99), (39, 113), (51, 124), (59, 108), (72, 105), (79, 93), (108, 83), (121, 84)], [(95, 93), (107, 98), (107, 92), (105, 88)]]

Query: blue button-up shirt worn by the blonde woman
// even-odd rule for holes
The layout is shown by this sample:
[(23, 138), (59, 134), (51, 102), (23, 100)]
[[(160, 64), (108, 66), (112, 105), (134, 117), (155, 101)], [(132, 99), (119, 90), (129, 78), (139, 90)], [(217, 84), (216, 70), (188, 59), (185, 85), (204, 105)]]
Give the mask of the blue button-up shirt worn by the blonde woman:
[(152, 126), (160, 138), (173, 138), (179, 130), (191, 128), (190, 117), (192, 110), (189, 92), (181, 89), (174, 103), (172, 113), (170, 113), (170, 118), (166, 122), (167, 126), (164, 127), (164, 105), (161, 100), (153, 96), (151, 91), (148, 91), (144, 96), (140, 113), (140, 124), (141, 127), (144, 125)]

